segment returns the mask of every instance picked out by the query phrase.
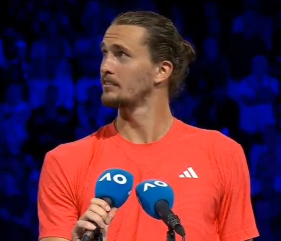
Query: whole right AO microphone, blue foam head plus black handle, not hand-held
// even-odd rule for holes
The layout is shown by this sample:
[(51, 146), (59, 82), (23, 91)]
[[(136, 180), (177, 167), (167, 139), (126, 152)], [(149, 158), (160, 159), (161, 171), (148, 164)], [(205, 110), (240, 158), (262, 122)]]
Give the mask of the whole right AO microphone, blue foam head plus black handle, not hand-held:
[(136, 194), (144, 211), (151, 217), (161, 219), (169, 229), (185, 237), (179, 218), (171, 210), (174, 204), (173, 189), (165, 182), (147, 180), (136, 187)]

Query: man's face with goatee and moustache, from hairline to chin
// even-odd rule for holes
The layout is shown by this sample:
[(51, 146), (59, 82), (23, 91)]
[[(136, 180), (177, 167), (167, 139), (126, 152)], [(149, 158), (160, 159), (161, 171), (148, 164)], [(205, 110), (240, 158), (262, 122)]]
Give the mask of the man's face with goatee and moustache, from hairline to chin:
[(101, 50), (101, 100), (105, 106), (140, 104), (154, 87), (155, 66), (144, 44), (146, 30), (133, 25), (111, 25)]

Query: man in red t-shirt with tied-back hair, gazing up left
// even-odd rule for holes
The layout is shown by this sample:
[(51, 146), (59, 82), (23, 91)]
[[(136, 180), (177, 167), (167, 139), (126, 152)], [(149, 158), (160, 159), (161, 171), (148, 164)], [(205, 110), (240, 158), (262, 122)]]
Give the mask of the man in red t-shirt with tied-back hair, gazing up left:
[(166, 240), (165, 224), (142, 210), (135, 192), (119, 210), (92, 199), (98, 176), (113, 167), (130, 171), (134, 187), (152, 178), (171, 184), (187, 240), (257, 237), (241, 146), (171, 114), (169, 100), (195, 58), (191, 45), (170, 20), (141, 11), (117, 16), (101, 49), (101, 99), (118, 108), (118, 116), (47, 153), (39, 185), (40, 239), (79, 241), (95, 221), (104, 240)]

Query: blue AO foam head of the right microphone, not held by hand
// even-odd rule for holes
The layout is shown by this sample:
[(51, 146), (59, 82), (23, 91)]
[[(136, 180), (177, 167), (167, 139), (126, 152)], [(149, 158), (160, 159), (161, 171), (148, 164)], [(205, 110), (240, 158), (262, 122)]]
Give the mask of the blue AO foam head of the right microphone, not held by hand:
[(157, 201), (165, 200), (168, 202), (170, 209), (173, 208), (174, 192), (165, 182), (159, 180), (141, 182), (136, 187), (136, 194), (144, 211), (153, 218), (161, 219), (155, 210)]

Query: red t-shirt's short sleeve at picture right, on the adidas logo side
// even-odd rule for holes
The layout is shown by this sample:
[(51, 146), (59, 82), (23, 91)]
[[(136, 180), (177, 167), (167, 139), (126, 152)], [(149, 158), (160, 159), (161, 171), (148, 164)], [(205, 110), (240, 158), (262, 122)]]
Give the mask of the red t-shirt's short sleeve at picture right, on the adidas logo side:
[(229, 153), (225, 162), (225, 186), (218, 215), (222, 241), (244, 241), (259, 233), (251, 204), (250, 175), (240, 145)]

